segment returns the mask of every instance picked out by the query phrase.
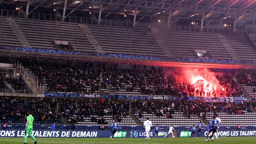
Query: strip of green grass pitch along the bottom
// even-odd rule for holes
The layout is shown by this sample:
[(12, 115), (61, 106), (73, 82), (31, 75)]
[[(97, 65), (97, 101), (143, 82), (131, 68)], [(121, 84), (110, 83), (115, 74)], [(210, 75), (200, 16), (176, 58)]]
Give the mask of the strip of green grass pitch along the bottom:
[[(218, 141), (204, 142), (205, 138), (36, 138), (38, 144), (255, 144), (256, 137), (224, 137)], [(22, 144), (23, 138), (0, 138), (0, 144)], [(27, 144), (34, 144), (28, 138)]]

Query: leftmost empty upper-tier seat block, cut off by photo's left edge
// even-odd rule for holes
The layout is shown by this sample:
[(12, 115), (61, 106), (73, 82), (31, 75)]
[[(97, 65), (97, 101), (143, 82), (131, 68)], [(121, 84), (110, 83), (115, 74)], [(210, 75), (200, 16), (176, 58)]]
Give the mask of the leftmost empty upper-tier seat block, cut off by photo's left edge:
[(0, 45), (21, 46), (18, 37), (14, 34), (4, 17), (0, 17)]

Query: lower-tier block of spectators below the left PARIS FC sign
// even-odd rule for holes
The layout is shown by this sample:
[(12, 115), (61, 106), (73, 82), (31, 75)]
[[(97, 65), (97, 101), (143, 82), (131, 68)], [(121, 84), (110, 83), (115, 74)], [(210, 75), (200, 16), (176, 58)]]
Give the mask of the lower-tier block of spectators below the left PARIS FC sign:
[(109, 102), (108, 99), (84, 100), (84, 99), (61, 99), (59, 106), (62, 114), (71, 123), (82, 122), (84, 117), (90, 118), (98, 124), (108, 124), (104, 116), (112, 115), (118, 122), (128, 115), (128, 105), (124, 102)]

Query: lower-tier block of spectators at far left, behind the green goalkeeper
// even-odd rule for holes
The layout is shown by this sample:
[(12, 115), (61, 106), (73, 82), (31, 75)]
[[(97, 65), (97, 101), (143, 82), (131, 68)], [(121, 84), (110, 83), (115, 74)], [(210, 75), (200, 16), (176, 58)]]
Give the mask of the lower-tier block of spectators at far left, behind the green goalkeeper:
[(26, 100), (19, 97), (0, 97), (0, 121), (26, 122), (26, 116), (31, 111), (35, 123), (59, 123), (60, 114), (55, 112), (55, 102), (46, 105), (44, 99), (33, 98)]

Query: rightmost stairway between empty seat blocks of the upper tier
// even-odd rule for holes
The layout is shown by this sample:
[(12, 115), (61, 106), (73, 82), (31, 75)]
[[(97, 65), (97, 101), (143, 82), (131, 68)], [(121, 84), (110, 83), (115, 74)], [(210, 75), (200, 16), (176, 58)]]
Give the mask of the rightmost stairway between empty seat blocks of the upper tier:
[(216, 34), (218, 36), (221, 44), (226, 48), (228, 54), (234, 59), (234, 60), (241, 60), (241, 58), (238, 57), (232, 46), (228, 43), (227, 39), (222, 34)]

